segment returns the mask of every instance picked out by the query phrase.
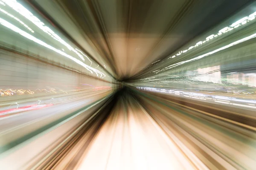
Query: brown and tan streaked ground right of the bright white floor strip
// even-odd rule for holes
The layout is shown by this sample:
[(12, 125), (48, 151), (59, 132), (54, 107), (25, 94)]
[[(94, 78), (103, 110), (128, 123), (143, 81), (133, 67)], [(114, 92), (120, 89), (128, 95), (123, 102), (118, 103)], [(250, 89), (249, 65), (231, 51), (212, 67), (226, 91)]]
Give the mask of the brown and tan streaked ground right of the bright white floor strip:
[(148, 113), (192, 162), (197, 157), (209, 169), (256, 166), (255, 109), (191, 101), (175, 94), (143, 93), (142, 96)]

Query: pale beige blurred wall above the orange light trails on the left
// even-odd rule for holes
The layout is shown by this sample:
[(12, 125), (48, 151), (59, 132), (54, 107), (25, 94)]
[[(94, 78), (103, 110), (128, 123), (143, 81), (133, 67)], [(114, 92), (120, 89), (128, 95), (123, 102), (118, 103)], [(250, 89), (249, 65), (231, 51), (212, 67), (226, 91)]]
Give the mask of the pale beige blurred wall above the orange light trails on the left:
[(20, 54), (3, 50), (0, 52), (1, 89), (54, 88), (71, 91), (99, 86), (112, 86), (112, 84)]

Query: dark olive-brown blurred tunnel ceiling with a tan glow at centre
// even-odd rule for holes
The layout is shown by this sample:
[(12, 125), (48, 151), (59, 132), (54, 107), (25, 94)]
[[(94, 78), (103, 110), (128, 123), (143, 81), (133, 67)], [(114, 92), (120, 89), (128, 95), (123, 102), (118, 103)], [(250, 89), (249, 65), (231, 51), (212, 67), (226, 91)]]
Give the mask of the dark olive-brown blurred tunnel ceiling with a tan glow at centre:
[(87, 52), (83, 42), (88, 42), (97, 51), (97, 55), (89, 51), (90, 55), (116, 79), (124, 80), (169, 57), (250, 0), (28, 2)]

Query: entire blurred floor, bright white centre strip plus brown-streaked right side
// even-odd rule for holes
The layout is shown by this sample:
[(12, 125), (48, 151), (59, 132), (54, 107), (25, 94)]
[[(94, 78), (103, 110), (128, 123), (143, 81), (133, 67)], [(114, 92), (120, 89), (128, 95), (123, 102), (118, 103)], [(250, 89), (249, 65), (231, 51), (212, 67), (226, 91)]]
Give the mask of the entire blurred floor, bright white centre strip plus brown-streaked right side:
[[(194, 100), (195, 105), (189, 105), (187, 102), (191, 100), (173, 96), (175, 94), (122, 89), (93, 139), (89, 140), (88, 135), (94, 128), (91, 127), (64, 157), (66, 161), (62, 164), (65, 166), (59, 167), (79, 170), (253, 170), (256, 134), (252, 129), (256, 125), (250, 121), (254, 122), (256, 116), (251, 116), (253, 120), (250, 121), (241, 121), (247, 115), (241, 115), (240, 119), (232, 116), (239, 116), (240, 112), (249, 115), (254, 111), (237, 109), (230, 112), (231, 109), (224, 106), (226, 109), (218, 115), (219, 109), (206, 102)], [(86, 148), (79, 153), (79, 146), (84, 144)]]

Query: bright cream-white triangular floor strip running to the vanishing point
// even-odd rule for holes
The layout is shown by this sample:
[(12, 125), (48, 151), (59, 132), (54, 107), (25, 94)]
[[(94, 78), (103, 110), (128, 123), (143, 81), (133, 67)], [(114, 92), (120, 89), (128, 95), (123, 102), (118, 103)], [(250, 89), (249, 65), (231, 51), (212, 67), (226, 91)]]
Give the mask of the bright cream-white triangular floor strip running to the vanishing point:
[(200, 160), (193, 164), (175, 142), (129, 94), (123, 94), (79, 169), (155, 170), (207, 169)]

